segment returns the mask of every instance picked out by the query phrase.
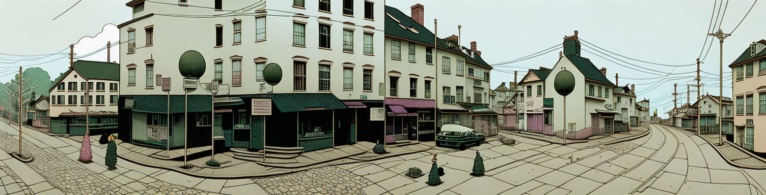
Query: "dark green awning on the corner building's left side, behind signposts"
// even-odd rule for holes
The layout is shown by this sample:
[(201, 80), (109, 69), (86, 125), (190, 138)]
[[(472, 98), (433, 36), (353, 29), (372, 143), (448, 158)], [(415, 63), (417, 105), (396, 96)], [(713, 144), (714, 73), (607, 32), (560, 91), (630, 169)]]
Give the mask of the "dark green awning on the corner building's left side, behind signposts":
[[(167, 113), (168, 96), (133, 96), (134, 112)], [(211, 112), (211, 97), (188, 96), (188, 112)], [(184, 96), (170, 96), (170, 113), (184, 112)]]

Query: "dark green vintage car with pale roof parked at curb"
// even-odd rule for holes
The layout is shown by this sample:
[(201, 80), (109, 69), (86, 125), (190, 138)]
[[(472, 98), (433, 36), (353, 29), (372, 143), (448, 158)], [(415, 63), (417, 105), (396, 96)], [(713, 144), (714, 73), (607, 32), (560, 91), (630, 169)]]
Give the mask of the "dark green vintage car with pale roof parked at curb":
[(472, 145), (481, 145), (483, 142), (483, 134), (462, 125), (442, 125), (441, 132), (436, 135), (437, 146), (460, 148), (460, 150), (465, 150)]

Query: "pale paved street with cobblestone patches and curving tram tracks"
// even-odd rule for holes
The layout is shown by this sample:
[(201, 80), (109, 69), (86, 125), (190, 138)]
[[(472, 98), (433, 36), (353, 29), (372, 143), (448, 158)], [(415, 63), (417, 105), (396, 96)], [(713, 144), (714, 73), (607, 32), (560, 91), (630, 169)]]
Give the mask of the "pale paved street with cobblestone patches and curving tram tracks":
[[(434, 148), (237, 180), (190, 177), (126, 161), (107, 171), (100, 165), (104, 148), (97, 143), (93, 163), (83, 164), (76, 160), (79, 143), (25, 129), (24, 150), (35, 160), (22, 164), (3, 154), (0, 174), (7, 176), (0, 180), (6, 193), (19, 194), (764, 194), (766, 171), (727, 164), (696, 135), (656, 124), (649, 127), (650, 135), (614, 145), (597, 140), (555, 145), (501, 133), (519, 143), (509, 146), (490, 139), (465, 151)], [(5, 123), (0, 128), (0, 148), (18, 149), (16, 128)], [(469, 175), (476, 150), (484, 158), (483, 177)], [(404, 176), (409, 167), (427, 174), (431, 152), (438, 153), (437, 164), (444, 167), (444, 184), (429, 187), (427, 177)]]

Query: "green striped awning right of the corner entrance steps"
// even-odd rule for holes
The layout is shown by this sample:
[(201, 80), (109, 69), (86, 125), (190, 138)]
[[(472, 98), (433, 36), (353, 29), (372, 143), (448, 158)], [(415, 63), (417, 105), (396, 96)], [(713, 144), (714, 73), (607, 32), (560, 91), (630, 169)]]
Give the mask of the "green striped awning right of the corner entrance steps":
[(347, 107), (332, 93), (284, 93), (263, 94), (254, 97), (271, 98), (280, 112), (303, 112), (314, 110), (346, 109)]

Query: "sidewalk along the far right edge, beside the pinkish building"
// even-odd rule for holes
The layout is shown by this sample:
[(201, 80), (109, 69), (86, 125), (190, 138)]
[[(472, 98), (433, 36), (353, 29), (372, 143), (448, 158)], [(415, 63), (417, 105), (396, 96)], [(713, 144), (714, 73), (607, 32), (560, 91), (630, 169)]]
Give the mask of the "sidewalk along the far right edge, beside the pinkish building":
[[(667, 125), (666, 127), (679, 130), (679, 132), (683, 132), (684, 134), (689, 135), (689, 137), (692, 137), (692, 138), (694, 138), (694, 136), (692, 135), (696, 135), (696, 133), (694, 132), (681, 130), (676, 127), (667, 126)], [(766, 169), (766, 159), (756, 156), (755, 154), (752, 154), (750, 151), (745, 150), (745, 148), (741, 148), (740, 146), (735, 145), (731, 141), (726, 141), (726, 139), (724, 139), (723, 145), (718, 145), (719, 144), (718, 134), (696, 135), (696, 136), (707, 141), (708, 144), (713, 146), (713, 148), (715, 148), (715, 151), (718, 151), (718, 153), (721, 154), (721, 157), (728, 164), (732, 164), (732, 166), (749, 168), (749, 169)]]

